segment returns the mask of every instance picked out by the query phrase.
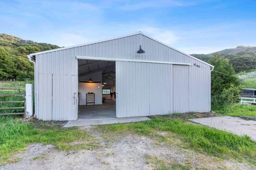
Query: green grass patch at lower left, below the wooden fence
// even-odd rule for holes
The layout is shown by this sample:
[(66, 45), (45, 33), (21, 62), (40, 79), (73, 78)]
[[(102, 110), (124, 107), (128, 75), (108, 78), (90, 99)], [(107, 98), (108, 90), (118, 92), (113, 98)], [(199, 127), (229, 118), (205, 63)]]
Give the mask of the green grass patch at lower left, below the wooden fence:
[[(79, 150), (97, 147), (97, 142), (83, 130), (77, 128), (62, 129), (57, 125), (39, 124), (36, 127), (30, 122), (22, 122), (17, 117), (0, 116), (0, 165), (15, 162), (11, 158), (17, 152), (23, 151), (30, 143), (52, 144), (60, 150)], [(78, 144), (74, 144), (76, 141)], [(70, 142), (72, 145), (70, 145)]]

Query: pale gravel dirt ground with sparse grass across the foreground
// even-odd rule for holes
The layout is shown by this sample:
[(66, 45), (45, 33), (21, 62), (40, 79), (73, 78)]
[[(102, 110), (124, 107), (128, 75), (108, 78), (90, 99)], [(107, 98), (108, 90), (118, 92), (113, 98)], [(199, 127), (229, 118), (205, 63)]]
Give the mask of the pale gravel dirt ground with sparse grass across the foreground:
[(35, 143), (24, 154), (15, 156), (21, 159), (19, 162), (0, 169), (154, 169), (162, 165), (188, 169), (254, 169), (133, 133), (112, 134), (111, 140), (107, 140), (108, 134), (99, 129), (84, 130), (95, 135), (99, 148), (65, 152), (52, 145)]

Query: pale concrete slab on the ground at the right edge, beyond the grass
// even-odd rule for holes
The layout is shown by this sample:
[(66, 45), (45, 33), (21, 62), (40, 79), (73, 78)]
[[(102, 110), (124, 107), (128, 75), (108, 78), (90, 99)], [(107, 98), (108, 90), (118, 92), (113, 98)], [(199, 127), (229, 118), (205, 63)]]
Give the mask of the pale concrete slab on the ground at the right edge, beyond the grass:
[(239, 117), (230, 116), (194, 118), (191, 119), (191, 121), (237, 135), (246, 134), (251, 137), (252, 140), (256, 141), (256, 121), (247, 121)]

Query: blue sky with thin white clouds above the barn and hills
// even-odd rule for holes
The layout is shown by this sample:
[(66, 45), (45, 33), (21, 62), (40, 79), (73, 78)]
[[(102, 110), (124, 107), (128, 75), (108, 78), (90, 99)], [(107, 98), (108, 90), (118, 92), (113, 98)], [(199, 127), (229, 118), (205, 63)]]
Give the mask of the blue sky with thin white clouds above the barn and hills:
[(256, 46), (256, 1), (0, 1), (0, 33), (70, 46), (142, 31), (183, 52)]

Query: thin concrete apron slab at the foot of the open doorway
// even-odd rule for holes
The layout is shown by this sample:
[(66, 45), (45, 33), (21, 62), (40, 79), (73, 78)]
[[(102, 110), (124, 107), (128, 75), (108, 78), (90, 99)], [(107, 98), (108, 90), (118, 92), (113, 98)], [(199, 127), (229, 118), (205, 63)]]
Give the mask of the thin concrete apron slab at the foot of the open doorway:
[(131, 122), (140, 122), (148, 121), (148, 117), (123, 117), (123, 118), (99, 118), (99, 119), (90, 119), (90, 120), (77, 120), (77, 121), (68, 121), (64, 128), (73, 127), (73, 126), (90, 126), (90, 125), (100, 125), (100, 124), (115, 124), (115, 123), (131, 123)]

